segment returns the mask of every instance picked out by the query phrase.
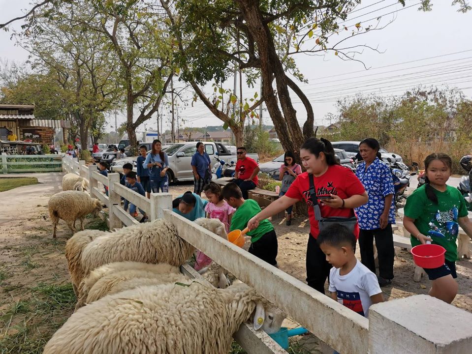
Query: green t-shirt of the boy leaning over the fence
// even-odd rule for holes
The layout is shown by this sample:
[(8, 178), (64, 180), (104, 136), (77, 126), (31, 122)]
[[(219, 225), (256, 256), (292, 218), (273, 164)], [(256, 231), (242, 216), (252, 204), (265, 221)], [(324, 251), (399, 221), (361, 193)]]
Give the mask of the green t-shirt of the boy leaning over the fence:
[[(255, 216), (261, 208), (256, 201), (248, 199), (244, 201), (241, 207), (238, 207), (231, 218), (230, 231), (243, 230), (248, 226), (248, 221)], [(254, 243), (269, 231), (274, 230), (274, 227), (269, 220), (262, 220), (259, 222), (257, 229), (249, 231), (246, 235), (251, 236), (251, 242)]]

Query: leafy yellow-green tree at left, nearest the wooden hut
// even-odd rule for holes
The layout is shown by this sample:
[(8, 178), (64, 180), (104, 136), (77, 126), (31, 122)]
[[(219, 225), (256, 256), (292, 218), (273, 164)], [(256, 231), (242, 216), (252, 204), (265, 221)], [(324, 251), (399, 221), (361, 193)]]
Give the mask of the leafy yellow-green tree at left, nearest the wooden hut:
[[(82, 147), (87, 147), (90, 129), (102, 128), (95, 120), (117, 103), (120, 89), (111, 80), (113, 51), (96, 33), (75, 26), (79, 14), (66, 9), (38, 17), (35, 35), (18, 35), (21, 45), (34, 56), (33, 69), (51, 73), (61, 88), (60, 97), (76, 128)], [(95, 131), (95, 134), (97, 132)]]

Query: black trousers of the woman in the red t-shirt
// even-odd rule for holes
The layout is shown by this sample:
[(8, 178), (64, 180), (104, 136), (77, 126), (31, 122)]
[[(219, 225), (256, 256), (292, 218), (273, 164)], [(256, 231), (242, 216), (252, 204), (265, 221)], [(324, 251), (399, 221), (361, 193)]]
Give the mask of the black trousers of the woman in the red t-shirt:
[(326, 255), (319, 248), (318, 243), (311, 234), (308, 236), (307, 245), (307, 283), (309, 287), (324, 294), (324, 283), (329, 276), (331, 266), (326, 261)]

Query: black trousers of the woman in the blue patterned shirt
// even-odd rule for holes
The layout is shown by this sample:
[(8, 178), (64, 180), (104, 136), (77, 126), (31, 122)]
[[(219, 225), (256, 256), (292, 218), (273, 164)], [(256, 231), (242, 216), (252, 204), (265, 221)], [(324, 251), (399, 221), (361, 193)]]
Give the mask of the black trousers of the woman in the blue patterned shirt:
[(378, 253), (378, 274), (384, 279), (393, 279), (395, 249), (393, 248), (392, 224), (388, 224), (385, 229), (359, 230), (361, 262), (376, 274), (374, 238)]

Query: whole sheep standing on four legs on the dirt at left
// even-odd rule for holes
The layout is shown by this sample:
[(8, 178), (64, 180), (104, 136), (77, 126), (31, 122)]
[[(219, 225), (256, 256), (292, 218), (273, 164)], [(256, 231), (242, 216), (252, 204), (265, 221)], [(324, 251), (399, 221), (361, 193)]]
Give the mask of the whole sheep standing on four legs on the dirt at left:
[(49, 199), (48, 209), (54, 227), (53, 237), (56, 237), (59, 219), (63, 219), (73, 233), (76, 232), (75, 221), (80, 219), (80, 227), (84, 230), (84, 217), (90, 213), (98, 215), (101, 203), (84, 192), (69, 190), (53, 195)]

